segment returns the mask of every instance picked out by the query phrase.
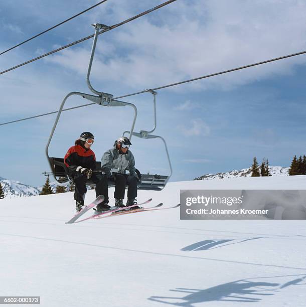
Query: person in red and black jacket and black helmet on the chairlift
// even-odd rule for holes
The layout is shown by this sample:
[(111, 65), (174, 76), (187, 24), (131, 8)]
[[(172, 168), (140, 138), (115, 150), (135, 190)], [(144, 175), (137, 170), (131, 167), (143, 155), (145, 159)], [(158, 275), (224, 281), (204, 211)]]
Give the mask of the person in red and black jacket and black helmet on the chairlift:
[[(96, 157), (91, 150), (94, 136), (90, 132), (83, 132), (80, 138), (75, 141), (75, 145), (70, 147), (65, 155), (65, 165), (68, 167), (70, 176), (75, 184), (74, 199), (76, 210), (81, 211), (84, 206), (86, 194), (86, 181), (91, 179), (96, 184), (96, 196), (102, 195), (103, 187), (107, 186), (106, 176), (101, 173), (93, 173), (96, 169)], [(99, 206), (99, 205), (98, 205)], [(99, 211), (109, 210), (107, 204), (99, 206)]]

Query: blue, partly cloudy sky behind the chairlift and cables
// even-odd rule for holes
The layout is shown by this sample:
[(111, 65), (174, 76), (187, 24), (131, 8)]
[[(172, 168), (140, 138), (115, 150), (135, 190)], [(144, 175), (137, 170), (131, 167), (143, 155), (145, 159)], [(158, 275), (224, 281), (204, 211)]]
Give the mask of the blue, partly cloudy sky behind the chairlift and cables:
[[(3, 1), (0, 49), (5, 50), (98, 1)], [(162, 1), (108, 0), (63, 26), (0, 56), (1, 71), (93, 34)], [(91, 81), (115, 97), (306, 50), (301, 1), (177, 2), (100, 35)], [(71, 91), (90, 93), (85, 76), (92, 40), (1, 75), (0, 122), (55, 111)], [(277, 61), (158, 91), (155, 134), (168, 142), (172, 181), (247, 168), (254, 156), (288, 166), (305, 154), (306, 56)], [(152, 97), (135, 103), (135, 131), (151, 129)], [(87, 103), (72, 98), (66, 107)], [(54, 115), (0, 126), (0, 176), (34, 186), (49, 171), (45, 145)], [(50, 145), (63, 157), (82, 131), (96, 137), (97, 159), (129, 129), (132, 110), (97, 105), (64, 112)], [(133, 138), (141, 172), (169, 172), (163, 143)]]

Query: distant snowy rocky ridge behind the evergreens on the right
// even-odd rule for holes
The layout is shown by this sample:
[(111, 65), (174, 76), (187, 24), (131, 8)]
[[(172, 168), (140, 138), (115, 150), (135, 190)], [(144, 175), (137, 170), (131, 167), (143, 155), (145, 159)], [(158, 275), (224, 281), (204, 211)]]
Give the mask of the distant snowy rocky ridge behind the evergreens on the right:
[[(269, 166), (269, 171), (271, 176), (289, 176), (289, 168)], [(240, 171), (234, 170), (227, 173), (218, 174), (206, 174), (201, 177), (197, 177), (194, 180), (213, 180), (213, 179), (223, 179), (223, 178), (237, 178), (237, 177), (251, 177), (251, 168), (242, 169)]]

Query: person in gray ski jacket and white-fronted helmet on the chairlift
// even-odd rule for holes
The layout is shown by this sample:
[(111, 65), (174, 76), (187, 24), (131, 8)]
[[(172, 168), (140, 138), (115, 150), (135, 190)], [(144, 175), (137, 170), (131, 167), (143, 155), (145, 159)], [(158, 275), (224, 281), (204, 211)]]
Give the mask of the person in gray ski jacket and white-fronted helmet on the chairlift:
[[(106, 177), (115, 183), (114, 198), (116, 200), (115, 206), (124, 207), (123, 199), (125, 193), (125, 186), (127, 189), (126, 206), (136, 204), (137, 197), (137, 175), (135, 173), (135, 159), (132, 152), (129, 150), (131, 145), (130, 140), (126, 136), (119, 137), (115, 142), (113, 148), (107, 150), (102, 157), (102, 172)], [(117, 169), (116, 173), (111, 173), (111, 169)], [(125, 171), (129, 171), (129, 175)], [(104, 204), (108, 203), (108, 187), (103, 191)], [(137, 207), (133, 207), (137, 209)]]

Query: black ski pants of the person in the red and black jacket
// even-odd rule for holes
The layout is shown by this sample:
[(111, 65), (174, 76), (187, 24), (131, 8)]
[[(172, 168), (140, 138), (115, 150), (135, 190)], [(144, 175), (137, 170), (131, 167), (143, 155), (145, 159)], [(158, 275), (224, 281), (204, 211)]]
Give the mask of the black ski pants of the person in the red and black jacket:
[[(93, 173), (90, 178), (96, 185), (96, 197), (104, 195), (105, 186), (107, 187), (107, 178), (100, 173)], [(87, 192), (86, 188), (87, 177), (81, 173), (76, 173), (73, 179), (75, 184), (74, 199), (76, 201), (83, 200)], [(104, 195), (105, 197), (105, 195)]]

